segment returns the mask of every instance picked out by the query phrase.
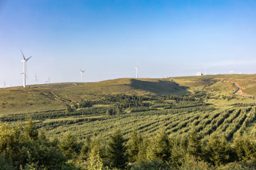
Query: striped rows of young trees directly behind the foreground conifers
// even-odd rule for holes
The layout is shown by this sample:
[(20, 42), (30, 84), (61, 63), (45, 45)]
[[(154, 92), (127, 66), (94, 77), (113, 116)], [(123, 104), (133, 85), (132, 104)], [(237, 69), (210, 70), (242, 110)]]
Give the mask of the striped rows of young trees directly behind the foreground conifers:
[[(125, 115), (70, 115), (55, 119), (36, 121), (40, 129), (49, 136), (63, 136), (64, 132), (74, 132), (77, 138), (100, 136), (108, 139), (116, 129), (122, 129), (124, 137), (131, 136), (138, 129), (143, 136), (154, 136), (159, 127), (165, 127), (171, 136), (186, 134), (195, 129), (202, 138), (209, 138), (213, 132), (232, 140), (234, 136), (243, 134), (246, 126), (255, 120), (255, 106), (234, 108), (229, 110), (186, 111), (186, 109), (151, 110)], [(191, 108), (190, 108), (191, 110)]]

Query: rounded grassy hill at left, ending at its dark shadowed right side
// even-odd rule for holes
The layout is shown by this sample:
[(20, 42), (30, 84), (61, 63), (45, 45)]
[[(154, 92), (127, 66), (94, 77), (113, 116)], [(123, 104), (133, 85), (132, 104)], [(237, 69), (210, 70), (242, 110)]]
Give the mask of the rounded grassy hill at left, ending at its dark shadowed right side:
[(107, 94), (187, 94), (188, 87), (161, 79), (120, 78), (94, 83), (54, 83), (30, 88), (0, 89), (0, 115), (58, 110), (81, 99), (100, 99)]

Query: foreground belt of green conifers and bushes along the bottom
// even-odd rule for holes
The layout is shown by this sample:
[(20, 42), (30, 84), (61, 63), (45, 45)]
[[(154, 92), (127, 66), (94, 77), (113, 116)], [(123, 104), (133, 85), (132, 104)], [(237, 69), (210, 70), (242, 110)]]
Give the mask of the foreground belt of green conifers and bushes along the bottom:
[(118, 129), (108, 141), (78, 142), (70, 133), (47, 138), (31, 118), (24, 127), (0, 123), (0, 169), (239, 169), (255, 160), (256, 140), (246, 135), (229, 143), (218, 133), (202, 140), (193, 129), (177, 137), (161, 127), (151, 138), (134, 130), (127, 140)]

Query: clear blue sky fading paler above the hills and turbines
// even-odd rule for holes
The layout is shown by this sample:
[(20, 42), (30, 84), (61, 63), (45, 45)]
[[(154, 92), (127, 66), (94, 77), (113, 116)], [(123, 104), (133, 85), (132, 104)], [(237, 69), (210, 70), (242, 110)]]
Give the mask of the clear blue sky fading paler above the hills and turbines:
[(0, 87), (256, 73), (256, 1), (0, 1)]

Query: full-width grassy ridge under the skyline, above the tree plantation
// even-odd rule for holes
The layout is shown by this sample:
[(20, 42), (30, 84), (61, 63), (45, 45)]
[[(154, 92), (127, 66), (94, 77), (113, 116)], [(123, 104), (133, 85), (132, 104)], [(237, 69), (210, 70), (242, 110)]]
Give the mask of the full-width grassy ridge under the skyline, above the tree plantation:
[[(225, 83), (222, 80), (225, 80)], [(256, 96), (256, 74), (219, 74), (161, 79), (120, 78), (93, 83), (52, 83), (31, 85), (30, 88), (0, 89), (0, 116), (60, 110), (64, 109), (66, 104), (74, 106), (82, 99), (97, 100), (108, 94), (184, 95), (201, 90), (212, 96), (231, 96), (236, 90), (236, 87), (230, 83), (232, 81), (242, 85), (245, 93)]]

